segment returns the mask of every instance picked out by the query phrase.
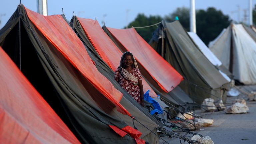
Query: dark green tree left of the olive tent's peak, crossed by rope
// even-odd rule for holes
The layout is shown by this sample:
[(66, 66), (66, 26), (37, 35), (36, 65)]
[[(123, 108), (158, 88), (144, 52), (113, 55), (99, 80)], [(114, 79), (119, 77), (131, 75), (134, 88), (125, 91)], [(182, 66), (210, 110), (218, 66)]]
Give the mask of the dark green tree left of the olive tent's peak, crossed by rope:
[[(161, 22), (162, 18), (160, 16), (145, 16), (144, 14), (138, 14), (133, 22), (128, 25), (128, 28), (134, 27), (143, 27), (156, 24)], [(147, 28), (136, 28), (138, 34), (147, 42), (152, 38), (153, 32), (156, 30), (156, 26), (147, 27)]]

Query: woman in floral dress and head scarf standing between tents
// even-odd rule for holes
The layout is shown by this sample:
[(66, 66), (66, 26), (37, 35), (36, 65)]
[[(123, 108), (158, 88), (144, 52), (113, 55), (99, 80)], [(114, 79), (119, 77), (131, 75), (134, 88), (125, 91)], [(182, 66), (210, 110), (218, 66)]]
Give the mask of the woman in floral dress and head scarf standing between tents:
[(115, 71), (115, 80), (144, 107), (142, 77), (131, 52), (123, 53)]

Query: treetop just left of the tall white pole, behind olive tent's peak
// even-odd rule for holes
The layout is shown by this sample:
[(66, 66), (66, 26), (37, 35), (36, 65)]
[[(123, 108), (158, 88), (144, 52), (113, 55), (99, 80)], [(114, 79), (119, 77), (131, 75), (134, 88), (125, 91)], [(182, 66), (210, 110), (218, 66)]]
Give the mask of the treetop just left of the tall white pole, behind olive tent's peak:
[(180, 23), (182, 26), (189, 31), (189, 9), (186, 7), (177, 8), (174, 12), (165, 16), (164, 19), (167, 22), (173, 22), (175, 17), (178, 16)]

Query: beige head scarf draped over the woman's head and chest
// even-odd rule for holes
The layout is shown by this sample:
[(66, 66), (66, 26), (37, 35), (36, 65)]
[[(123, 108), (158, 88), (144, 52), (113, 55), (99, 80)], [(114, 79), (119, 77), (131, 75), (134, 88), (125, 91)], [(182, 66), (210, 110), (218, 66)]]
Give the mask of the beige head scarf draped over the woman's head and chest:
[(124, 53), (123, 53), (123, 55), (122, 55), (122, 57), (121, 57), (121, 60), (120, 60), (120, 63), (119, 63), (119, 67), (118, 67), (117, 69), (120, 70), (121, 75), (122, 75), (125, 79), (131, 81), (133, 85), (137, 85), (137, 84), (138, 84), (138, 78), (137, 78), (136, 76), (132, 75), (131, 73), (129, 73), (129, 72), (128, 72), (126, 69), (124, 69), (123, 67), (121, 67), (121, 65), (122, 65), (122, 63), (123, 63), (123, 60), (124, 60), (124, 56), (125, 56), (126, 53), (129, 53), (130, 55), (132, 55), (134, 67), (135, 67), (136, 69), (139, 69), (139, 68), (138, 68), (138, 65), (137, 65), (137, 62), (136, 62), (136, 60), (135, 60), (135, 58), (134, 58), (134, 56), (133, 56), (133, 54), (132, 54), (131, 52), (124, 52)]

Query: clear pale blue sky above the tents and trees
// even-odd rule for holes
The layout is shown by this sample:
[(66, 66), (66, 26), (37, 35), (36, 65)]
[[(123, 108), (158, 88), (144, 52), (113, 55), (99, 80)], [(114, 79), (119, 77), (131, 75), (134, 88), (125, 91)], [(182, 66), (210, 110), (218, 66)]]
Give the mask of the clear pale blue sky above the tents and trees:
[[(20, 3), (20, 0), (0, 0), (0, 20), (2, 28)], [(21, 0), (21, 3), (30, 10), (37, 11), (37, 0)], [(132, 22), (139, 13), (160, 15), (164, 17), (175, 11), (178, 7), (190, 7), (190, 0), (48, 0), (48, 15), (62, 14), (62, 8), (67, 20), (73, 16), (95, 19), (112, 28), (124, 28)], [(252, 0), (253, 7), (256, 0)], [(249, 14), (249, 0), (195, 0), (195, 8), (206, 10), (215, 7), (225, 15), (238, 21), (244, 19), (244, 10)], [(240, 8), (240, 12), (238, 9)], [(247, 17), (248, 20), (248, 17)]]

